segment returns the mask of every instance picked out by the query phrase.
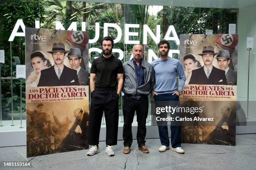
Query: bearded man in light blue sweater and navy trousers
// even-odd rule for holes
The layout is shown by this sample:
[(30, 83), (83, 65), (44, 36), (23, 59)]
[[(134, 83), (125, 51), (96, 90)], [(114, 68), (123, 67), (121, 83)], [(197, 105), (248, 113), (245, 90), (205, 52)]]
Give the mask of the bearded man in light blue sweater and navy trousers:
[[(186, 77), (181, 62), (168, 57), (169, 49), (170, 45), (167, 40), (159, 42), (160, 58), (151, 63), (156, 75), (156, 87), (152, 92), (152, 96), (155, 101), (176, 101), (176, 103), (179, 103), (179, 96), (184, 87)], [(179, 76), (179, 87), (177, 87), (177, 75)], [(158, 129), (161, 140), (159, 152), (164, 152), (169, 149), (167, 122), (164, 125), (158, 124)], [(181, 148), (181, 127), (179, 125), (171, 125), (171, 144), (173, 151), (184, 153), (184, 150)]]

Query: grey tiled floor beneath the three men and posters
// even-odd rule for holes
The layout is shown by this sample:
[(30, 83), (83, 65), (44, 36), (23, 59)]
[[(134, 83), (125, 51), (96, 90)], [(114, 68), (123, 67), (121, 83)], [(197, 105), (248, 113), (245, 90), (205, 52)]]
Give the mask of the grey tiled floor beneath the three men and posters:
[(26, 146), (0, 148), (3, 161), (29, 161), (32, 168), (0, 168), (1, 170), (256, 170), (256, 134), (237, 135), (236, 146), (182, 144), (185, 154), (172, 150), (160, 153), (159, 139), (147, 139), (150, 153), (137, 150), (133, 141), (131, 153), (122, 153), (123, 141), (114, 147), (115, 156), (100, 153), (87, 156), (87, 150), (26, 158)]

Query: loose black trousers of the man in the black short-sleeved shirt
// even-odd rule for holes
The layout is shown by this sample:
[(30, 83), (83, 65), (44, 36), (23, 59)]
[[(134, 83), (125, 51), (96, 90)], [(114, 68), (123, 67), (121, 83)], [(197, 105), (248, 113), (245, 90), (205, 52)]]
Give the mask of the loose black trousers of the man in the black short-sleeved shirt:
[(105, 113), (106, 145), (116, 145), (118, 137), (118, 94), (115, 90), (95, 89), (91, 95), (89, 145), (99, 144), (101, 119)]

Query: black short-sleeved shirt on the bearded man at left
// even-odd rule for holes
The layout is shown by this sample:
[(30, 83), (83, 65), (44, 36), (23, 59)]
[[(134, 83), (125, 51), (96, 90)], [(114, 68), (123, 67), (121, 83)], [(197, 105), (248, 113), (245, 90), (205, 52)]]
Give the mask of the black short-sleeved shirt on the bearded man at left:
[(109, 58), (101, 55), (92, 61), (91, 73), (96, 74), (96, 87), (116, 87), (117, 74), (123, 74), (123, 64), (114, 55)]

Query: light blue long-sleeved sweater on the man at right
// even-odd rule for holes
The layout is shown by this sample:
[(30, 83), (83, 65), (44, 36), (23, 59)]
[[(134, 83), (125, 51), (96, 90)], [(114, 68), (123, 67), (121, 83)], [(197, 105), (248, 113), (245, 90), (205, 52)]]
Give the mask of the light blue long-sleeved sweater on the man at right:
[[(182, 90), (186, 81), (182, 63), (172, 57), (165, 60), (156, 59), (151, 62), (156, 73), (157, 94), (173, 93)], [(179, 88), (177, 88), (177, 75), (179, 76)]]

